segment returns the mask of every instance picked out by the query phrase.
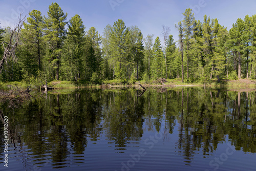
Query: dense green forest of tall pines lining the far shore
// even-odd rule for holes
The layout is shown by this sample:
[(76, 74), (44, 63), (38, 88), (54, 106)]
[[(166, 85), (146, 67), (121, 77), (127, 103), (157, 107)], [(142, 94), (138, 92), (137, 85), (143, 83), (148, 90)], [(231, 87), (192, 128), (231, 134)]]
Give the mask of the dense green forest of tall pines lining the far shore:
[[(196, 20), (191, 9), (175, 25), (175, 42), (168, 27), (159, 36), (143, 37), (137, 26), (125, 26), (118, 19), (107, 25), (102, 35), (86, 26), (79, 15), (67, 21), (67, 13), (57, 3), (47, 16), (33, 10), (18, 35), (15, 55), (1, 66), (0, 81), (34, 79), (87, 80), (100, 83), (115, 79), (125, 83), (157, 78), (205, 82), (212, 78), (256, 77), (256, 15), (238, 18), (228, 31), (218, 19), (204, 16)], [(0, 28), (0, 55), (10, 42), (13, 29)], [(13, 40), (12, 40), (13, 41)], [(164, 46), (162, 46), (164, 45)]]

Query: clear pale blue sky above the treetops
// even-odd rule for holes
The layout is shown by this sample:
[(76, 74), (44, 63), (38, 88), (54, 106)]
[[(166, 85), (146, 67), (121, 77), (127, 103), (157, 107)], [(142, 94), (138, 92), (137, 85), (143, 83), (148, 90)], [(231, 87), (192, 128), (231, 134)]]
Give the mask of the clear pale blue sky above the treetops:
[(80, 15), (86, 30), (93, 26), (102, 34), (106, 25), (122, 19), (126, 27), (138, 26), (144, 37), (154, 34), (161, 40), (162, 25), (170, 27), (170, 34), (178, 39), (175, 23), (182, 20), (186, 8), (193, 9), (196, 19), (202, 21), (206, 14), (228, 29), (238, 18), (256, 14), (255, 0), (0, 0), (0, 26), (13, 27), (21, 11), (25, 15), (36, 9), (47, 16), (48, 7), (55, 2), (68, 13), (68, 19)]

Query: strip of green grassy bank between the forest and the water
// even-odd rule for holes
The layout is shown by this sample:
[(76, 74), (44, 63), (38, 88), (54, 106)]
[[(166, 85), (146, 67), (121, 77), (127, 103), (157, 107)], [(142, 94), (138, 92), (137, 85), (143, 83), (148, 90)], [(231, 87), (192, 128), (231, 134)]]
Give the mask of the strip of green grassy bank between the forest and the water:
[[(254, 88), (256, 86), (255, 80), (249, 79), (239, 79), (239, 80), (228, 80), (223, 79), (220, 83), (218, 83), (217, 79), (211, 79), (206, 83), (195, 82), (195, 83), (186, 83), (181, 81), (181, 79), (167, 79), (164, 84), (160, 83), (156, 80), (140, 80), (140, 81), (127, 81), (120, 82), (119, 80), (103, 80), (100, 84), (92, 83), (86, 80), (79, 81), (51, 81), (48, 82), (49, 87), (53, 87), (54, 89), (75, 89), (75, 88), (86, 88), (86, 87), (100, 87), (102, 84), (109, 85), (110, 87), (116, 86), (138, 86), (138, 84), (142, 84), (145, 87), (147, 86), (209, 86), (209, 87), (231, 87), (231, 88), (243, 88), (250, 87)], [(39, 81), (36, 82), (25, 82), (25, 81), (13, 81), (13, 82), (0, 82), (1, 90), (9, 90), (11, 86), (17, 85), (20, 88), (28, 88), (32, 86), (34, 88), (39, 88), (42, 86), (42, 83)]]

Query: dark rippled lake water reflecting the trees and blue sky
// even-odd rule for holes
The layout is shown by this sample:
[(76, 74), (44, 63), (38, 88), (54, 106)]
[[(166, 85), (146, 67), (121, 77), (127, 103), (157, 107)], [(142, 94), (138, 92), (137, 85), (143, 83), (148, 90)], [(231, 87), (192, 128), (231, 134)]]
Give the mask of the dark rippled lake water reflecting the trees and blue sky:
[(84, 89), (18, 109), (2, 101), (0, 170), (256, 170), (256, 92), (149, 88), (140, 95)]

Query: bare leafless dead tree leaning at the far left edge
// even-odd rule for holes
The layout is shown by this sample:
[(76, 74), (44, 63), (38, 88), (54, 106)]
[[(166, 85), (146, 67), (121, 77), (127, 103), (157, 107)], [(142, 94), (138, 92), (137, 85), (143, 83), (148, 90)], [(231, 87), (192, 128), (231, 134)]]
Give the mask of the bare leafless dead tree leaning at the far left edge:
[(15, 55), (15, 50), (18, 46), (19, 43), (19, 36), (20, 36), (20, 30), (23, 27), (23, 24), (25, 22), (26, 15), (24, 16), (24, 18), (22, 18), (22, 15), (20, 14), (19, 18), (18, 18), (18, 24), (16, 26), (14, 26), (14, 29), (12, 30), (9, 42), (3, 41), (2, 44), (4, 46), (4, 55), (2, 60), (0, 61), (0, 73), (2, 73), (3, 71), (3, 67), (4, 67), (4, 62), (7, 63), (7, 59), (11, 58), (13, 61), (17, 61), (17, 57)]

